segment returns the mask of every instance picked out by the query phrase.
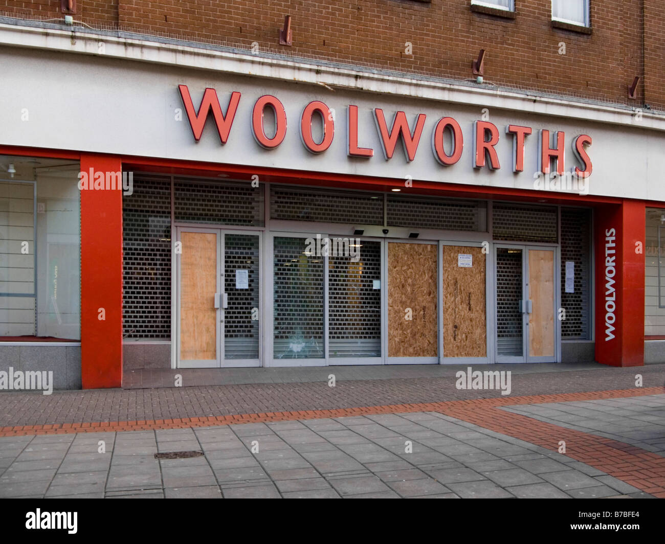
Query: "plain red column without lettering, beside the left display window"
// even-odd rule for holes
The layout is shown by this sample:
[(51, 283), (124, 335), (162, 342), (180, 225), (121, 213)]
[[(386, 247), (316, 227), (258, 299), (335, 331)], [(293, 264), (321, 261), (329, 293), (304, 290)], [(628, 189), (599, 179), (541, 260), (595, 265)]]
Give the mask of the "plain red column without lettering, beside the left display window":
[[(89, 175), (90, 169), (103, 172), (106, 180), (106, 172), (122, 172), (122, 162), (118, 157), (81, 154), (81, 172)], [(122, 190), (83, 188), (80, 206), (82, 386), (120, 387)]]

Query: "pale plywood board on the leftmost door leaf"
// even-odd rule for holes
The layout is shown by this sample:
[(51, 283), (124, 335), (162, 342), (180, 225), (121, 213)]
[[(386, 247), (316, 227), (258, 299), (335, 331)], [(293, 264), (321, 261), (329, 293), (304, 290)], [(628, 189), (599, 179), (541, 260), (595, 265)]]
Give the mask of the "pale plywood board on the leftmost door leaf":
[(180, 255), (180, 360), (217, 358), (217, 235), (183, 232)]

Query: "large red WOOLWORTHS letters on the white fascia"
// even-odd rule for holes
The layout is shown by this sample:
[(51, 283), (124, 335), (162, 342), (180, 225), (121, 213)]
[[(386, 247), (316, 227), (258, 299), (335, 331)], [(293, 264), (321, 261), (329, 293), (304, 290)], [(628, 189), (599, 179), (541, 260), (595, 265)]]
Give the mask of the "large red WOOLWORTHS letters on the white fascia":
[[(194, 108), (189, 88), (186, 85), (178, 85), (178, 90), (180, 90), (180, 96), (190, 120), (194, 140), (198, 142), (201, 139), (205, 120), (212, 112), (219, 140), (222, 145), (225, 144), (231, 133), (231, 126), (233, 126), (241, 94), (237, 91), (231, 92), (224, 114), (219, 105), (219, 98), (215, 89), (205, 89), (198, 111)], [(273, 136), (267, 136), (263, 126), (263, 113), (266, 108), (270, 108), (275, 116), (275, 134)], [(319, 116), (323, 122), (323, 138), (320, 142), (317, 142), (312, 135), (314, 116)], [(398, 111), (394, 114), (392, 124), (389, 127), (384, 110), (374, 108), (374, 122), (384, 158), (390, 160), (395, 154), (398, 142), (402, 142), (406, 160), (408, 162), (415, 160), (425, 120), (425, 114), (418, 114), (412, 127), (406, 118), (406, 114)], [(287, 114), (282, 102), (269, 94), (261, 96), (252, 108), (251, 128), (259, 146), (265, 149), (275, 149), (281, 145), (287, 134)], [(310, 102), (303, 109), (299, 129), (305, 149), (315, 154), (325, 152), (331, 146), (334, 138), (334, 116), (331, 109), (320, 100)], [(452, 141), (452, 145), (448, 150), (444, 146), (446, 131), (450, 134)], [(360, 145), (358, 132), (358, 106), (349, 104), (346, 108), (346, 154), (350, 157), (372, 158), (374, 150)], [(513, 172), (524, 171), (524, 146), (527, 136), (530, 136), (532, 132), (533, 130), (529, 126), (509, 124), (505, 127), (505, 134), (513, 138)], [(555, 132), (553, 138), (551, 138), (549, 130), (539, 130), (538, 164), (539, 171), (542, 174), (550, 174), (552, 163), (556, 165), (557, 174), (564, 174), (565, 138), (565, 133), (561, 131)], [(554, 142), (553, 146), (551, 146), (552, 140)], [(495, 150), (498, 142), (499, 129), (495, 124), (489, 121), (475, 121), (473, 123), (473, 168), (484, 168), (485, 166), (491, 170), (501, 168), (499, 156)], [(573, 152), (579, 162), (584, 165), (584, 170), (577, 166), (573, 168), (573, 174), (581, 178), (588, 178), (593, 171), (591, 158), (589, 158), (586, 149), (587, 146), (591, 146), (591, 136), (580, 134), (573, 139)], [(432, 131), (431, 148), (434, 157), (443, 166), (452, 166), (460, 160), (464, 150), (464, 138), (460, 124), (454, 118), (442, 117), (438, 120)]]

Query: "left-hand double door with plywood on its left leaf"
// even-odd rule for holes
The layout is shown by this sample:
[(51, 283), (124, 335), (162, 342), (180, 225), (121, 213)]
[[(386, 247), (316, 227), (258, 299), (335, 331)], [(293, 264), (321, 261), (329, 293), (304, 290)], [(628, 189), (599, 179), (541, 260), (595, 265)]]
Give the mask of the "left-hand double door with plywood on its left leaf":
[(261, 366), (261, 234), (176, 231), (178, 368)]

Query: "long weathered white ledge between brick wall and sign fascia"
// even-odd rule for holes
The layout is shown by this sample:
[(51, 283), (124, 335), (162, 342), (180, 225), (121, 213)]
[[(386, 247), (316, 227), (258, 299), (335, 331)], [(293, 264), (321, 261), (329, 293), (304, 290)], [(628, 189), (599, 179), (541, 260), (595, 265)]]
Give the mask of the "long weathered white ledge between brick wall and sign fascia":
[[(100, 42), (104, 53), (100, 54)], [(160, 43), (110, 34), (47, 29), (0, 23), (0, 45), (66, 53), (96, 55), (112, 59), (141, 61), (172, 67), (213, 70), (231, 74), (271, 78), (289, 82), (377, 92), (410, 98), (426, 98), (481, 108), (518, 110), (547, 116), (634, 126), (665, 131), (665, 116), (644, 110), (628, 110), (611, 104), (587, 103), (572, 98), (552, 98), (504, 89), (470, 87), (418, 76), (377, 74), (358, 69), (271, 59), (258, 55), (215, 51), (189, 45)], [(330, 92), (330, 91), (329, 91)]]

